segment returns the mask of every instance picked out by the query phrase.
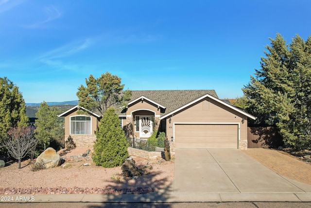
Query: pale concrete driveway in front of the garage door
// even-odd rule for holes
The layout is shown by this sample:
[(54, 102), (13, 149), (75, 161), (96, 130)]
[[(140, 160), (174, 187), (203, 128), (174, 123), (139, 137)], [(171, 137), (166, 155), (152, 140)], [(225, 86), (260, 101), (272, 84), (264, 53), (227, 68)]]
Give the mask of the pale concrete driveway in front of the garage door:
[(173, 193), (305, 193), (238, 149), (176, 149)]

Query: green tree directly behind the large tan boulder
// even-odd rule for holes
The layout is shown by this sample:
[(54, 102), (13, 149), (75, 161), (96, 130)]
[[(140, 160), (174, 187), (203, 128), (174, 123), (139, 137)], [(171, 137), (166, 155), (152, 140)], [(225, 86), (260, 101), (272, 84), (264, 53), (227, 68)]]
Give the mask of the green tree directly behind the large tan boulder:
[(50, 145), (51, 140), (60, 142), (64, 135), (63, 121), (57, 116), (60, 111), (43, 101), (38, 112), (35, 113), (35, 137), (43, 144), (44, 150)]

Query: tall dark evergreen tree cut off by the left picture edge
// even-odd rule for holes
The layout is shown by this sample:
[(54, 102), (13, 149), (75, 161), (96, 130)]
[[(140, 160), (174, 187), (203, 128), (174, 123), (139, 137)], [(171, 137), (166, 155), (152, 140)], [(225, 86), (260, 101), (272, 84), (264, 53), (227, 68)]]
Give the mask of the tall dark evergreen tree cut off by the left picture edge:
[(26, 105), (18, 87), (7, 77), (0, 77), (0, 143), (12, 127), (27, 126)]

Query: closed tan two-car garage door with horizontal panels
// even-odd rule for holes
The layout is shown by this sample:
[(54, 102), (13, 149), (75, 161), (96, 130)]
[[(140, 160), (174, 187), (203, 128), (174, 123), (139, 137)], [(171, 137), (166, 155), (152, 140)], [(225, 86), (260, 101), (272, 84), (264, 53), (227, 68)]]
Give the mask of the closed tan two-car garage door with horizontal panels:
[(176, 148), (238, 148), (238, 125), (175, 124)]

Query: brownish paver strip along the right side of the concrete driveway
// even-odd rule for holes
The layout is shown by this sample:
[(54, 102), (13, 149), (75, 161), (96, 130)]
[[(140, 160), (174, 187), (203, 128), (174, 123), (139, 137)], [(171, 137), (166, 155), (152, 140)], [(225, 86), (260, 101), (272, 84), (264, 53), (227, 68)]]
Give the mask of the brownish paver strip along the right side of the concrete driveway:
[(253, 148), (242, 150), (281, 176), (311, 185), (311, 164), (284, 151)]

